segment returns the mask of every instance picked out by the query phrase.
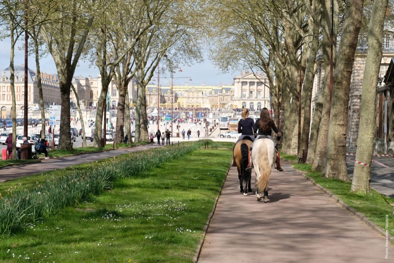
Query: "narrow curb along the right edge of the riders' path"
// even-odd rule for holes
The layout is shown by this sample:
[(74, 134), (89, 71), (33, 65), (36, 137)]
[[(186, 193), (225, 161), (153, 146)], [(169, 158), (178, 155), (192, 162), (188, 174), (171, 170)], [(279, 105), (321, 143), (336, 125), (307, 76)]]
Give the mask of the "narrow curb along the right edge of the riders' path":
[[(294, 169), (294, 168), (293, 168)], [(305, 172), (303, 171), (299, 171), (296, 170), (298, 172), (300, 172), (305, 179), (307, 179), (308, 181), (310, 181), (314, 186), (316, 186), (316, 188), (318, 188), (320, 191), (322, 191), (323, 193), (325, 193), (328, 197), (331, 197), (333, 200), (335, 200), (336, 203), (338, 203), (339, 205), (341, 205), (343, 208), (345, 208), (346, 210), (348, 210), (349, 212), (353, 213), (353, 215), (355, 215), (356, 217), (358, 217), (362, 223), (364, 223), (365, 225), (367, 225), (368, 227), (370, 227), (371, 229), (373, 229), (374, 231), (378, 232), (379, 234), (381, 234), (382, 236), (386, 236), (386, 231), (384, 231), (382, 228), (378, 227), (377, 225), (375, 225), (372, 221), (370, 221), (365, 215), (359, 213), (356, 211), (356, 209), (354, 209), (352, 206), (349, 206), (347, 204), (345, 204), (342, 200), (340, 200), (336, 195), (332, 194), (330, 191), (328, 191), (326, 188), (324, 188), (323, 186), (321, 186), (320, 184), (316, 183), (316, 181), (305, 175)], [(389, 240), (394, 243), (394, 236), (389, 234), (388, 236)]]

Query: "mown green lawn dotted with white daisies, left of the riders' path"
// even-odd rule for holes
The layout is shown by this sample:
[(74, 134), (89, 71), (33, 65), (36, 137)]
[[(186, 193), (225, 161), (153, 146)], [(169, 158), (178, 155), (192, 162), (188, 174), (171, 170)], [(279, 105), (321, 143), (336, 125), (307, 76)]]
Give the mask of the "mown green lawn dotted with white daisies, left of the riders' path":
[(1, 238), (0, 261), (191, 263), (231, 149), (212, 143), (118, 178), (108, 191)]

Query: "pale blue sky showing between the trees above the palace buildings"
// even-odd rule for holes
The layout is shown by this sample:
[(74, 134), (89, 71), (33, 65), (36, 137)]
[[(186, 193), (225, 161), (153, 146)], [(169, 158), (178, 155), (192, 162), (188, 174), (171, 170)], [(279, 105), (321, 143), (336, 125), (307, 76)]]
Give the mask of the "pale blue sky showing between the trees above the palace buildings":
[[(21, 47), (22, 45), (19, 45)], [(14, 65), (22, 65), (25, 61), (25, 55), (23, 50), (15, 49)], [(8, 38), (0, 41), (0, 70), (9, 66), (10, 60), (10, 40)], [(48, 74), (57, 74), (55, 63), (50, 55), (46, 58), (40, 59), (41, 72)], [(28, 67), (33, 71), (36, 70), (35, 58), (29, 57)], [(221, 73), (218, 68), (205, 59), (202, 63), (195, 63), (192, 66), (181, 66), (182, 72), (176, 72), (174, 78), (177, 77), (190, 77), (192, 81), (187, 81), (187, 78), (178, 79), (175, 81), (174, 86), (183, 85), (186, 81), (189, 86), (220, 86), (220, 85), (232, 85), (233, 77), (239, 75), (239, 72)], [(90, 65), (89, 62), (81, 61), (75, 70), (74, 76), (84, 77), (97, 77), (99, 75), (99, 69), (95, 65)], [(164, 80), (163, 80), (164, 81)], [(161, 81), (162, 82), (162, 81)], [(163, 82), (163, 85), (166, 85)]]

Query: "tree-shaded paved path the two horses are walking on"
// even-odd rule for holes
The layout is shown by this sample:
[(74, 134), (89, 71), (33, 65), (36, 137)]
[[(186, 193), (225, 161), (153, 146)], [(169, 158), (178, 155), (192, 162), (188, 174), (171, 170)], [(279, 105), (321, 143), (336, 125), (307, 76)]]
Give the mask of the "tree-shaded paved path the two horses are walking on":
[[(274, 170), (266, 204), (239, 193), (230, 168), (198, 263), (379, 263), (394, 247), (290, 165)], [(254, 178), (252, 179), (252, 184)]]

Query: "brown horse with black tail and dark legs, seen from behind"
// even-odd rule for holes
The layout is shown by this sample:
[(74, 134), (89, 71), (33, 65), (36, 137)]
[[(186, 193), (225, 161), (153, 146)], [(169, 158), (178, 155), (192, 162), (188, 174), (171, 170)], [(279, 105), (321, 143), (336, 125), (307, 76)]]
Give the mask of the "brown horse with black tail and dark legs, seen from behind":
[(248, 166), (248, 151), (252, 146), (252, 141), (246, 139), (249, 137), (244, 138), (244, 140), (241, 140), (235, 144), (232, 155), (237, 165), (240, 192), (246, 196), (248, 195), (247, 191), (252, 192), (252, 188), (250, 187), (252, 172), (245, 171), (246, 167)]

